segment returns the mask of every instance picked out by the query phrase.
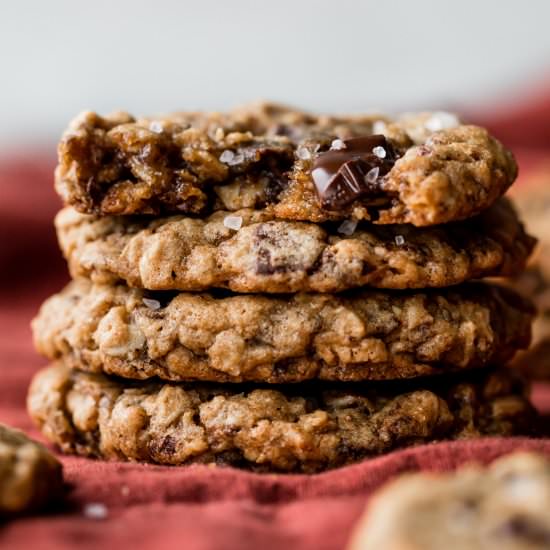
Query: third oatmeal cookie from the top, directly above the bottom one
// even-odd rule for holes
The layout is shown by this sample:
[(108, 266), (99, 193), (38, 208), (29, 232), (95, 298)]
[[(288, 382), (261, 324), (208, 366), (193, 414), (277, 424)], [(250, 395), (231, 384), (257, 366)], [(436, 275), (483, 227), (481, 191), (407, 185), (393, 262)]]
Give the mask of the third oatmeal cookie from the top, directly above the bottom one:
[(127, 378), (298, 382), (408, 378), (501, 364), (533, 310), (484, 284), (285, 297), (70, 283), (33, 321), (49, 359)]

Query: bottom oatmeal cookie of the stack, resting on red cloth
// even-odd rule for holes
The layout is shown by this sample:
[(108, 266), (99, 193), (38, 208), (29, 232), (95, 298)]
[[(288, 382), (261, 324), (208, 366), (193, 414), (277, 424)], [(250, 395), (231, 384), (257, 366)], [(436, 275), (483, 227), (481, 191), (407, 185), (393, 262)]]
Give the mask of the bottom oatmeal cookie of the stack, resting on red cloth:
[(272, 388), (133, 383), (57, 363), (36, 375), (28, 408), (67, 453), (304, 472), (427, 441), (526, 433), (535, 418), (504, 372)]

